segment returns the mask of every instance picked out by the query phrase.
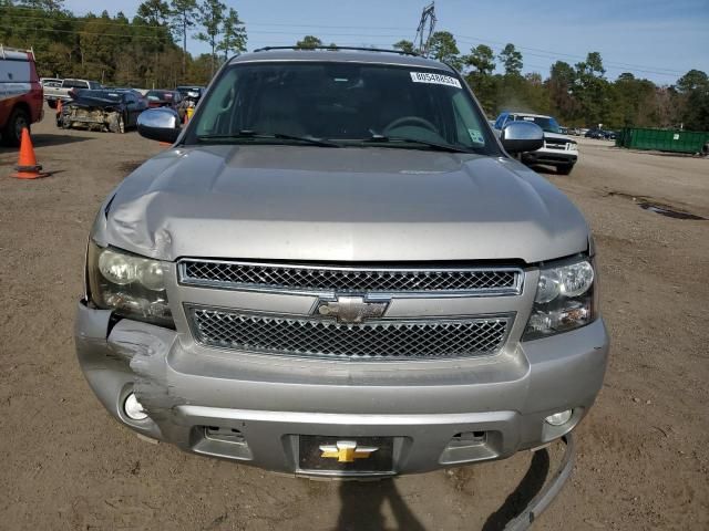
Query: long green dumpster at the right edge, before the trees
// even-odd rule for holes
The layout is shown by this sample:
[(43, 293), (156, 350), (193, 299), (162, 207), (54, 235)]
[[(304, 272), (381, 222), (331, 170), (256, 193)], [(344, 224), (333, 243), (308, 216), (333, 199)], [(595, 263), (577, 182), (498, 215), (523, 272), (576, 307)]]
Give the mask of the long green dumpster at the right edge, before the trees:
[(616, 138), (616, 146), (693, 154), (701, 153), (707, 142), (709, 133), (699, 131), (625, 127)]

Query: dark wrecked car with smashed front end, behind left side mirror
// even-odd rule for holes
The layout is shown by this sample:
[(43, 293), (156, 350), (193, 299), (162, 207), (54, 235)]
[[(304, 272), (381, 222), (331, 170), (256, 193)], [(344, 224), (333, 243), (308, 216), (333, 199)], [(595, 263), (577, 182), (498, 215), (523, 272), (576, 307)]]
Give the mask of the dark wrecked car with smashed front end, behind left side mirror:
[(56, 113), (56, 126), (125, 133), (146, 108), (147, 103), (135, 91), (81, 90)]

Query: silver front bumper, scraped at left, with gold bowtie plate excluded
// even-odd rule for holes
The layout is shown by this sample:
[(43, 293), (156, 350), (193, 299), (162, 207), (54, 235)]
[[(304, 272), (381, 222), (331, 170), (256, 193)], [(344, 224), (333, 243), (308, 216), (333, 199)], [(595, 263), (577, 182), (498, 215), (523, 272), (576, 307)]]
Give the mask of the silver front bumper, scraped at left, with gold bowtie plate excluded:
[[(586, 414), (608, 354), (602, 320), (520, 343), (513, 354), (480, 360), (472, 369), (449, 361), (446, 375), (440, 364), (427, 362), (402, 369), (398, 362), (254, 355), (247, 363), (173, 330), (130, 320), (110, 323), (110, 311), (79, 304), (79, 362), (121, 423), (187, 451), (307, 476), (342, 473), (299, 467), (299, 436), (306, 435), (392, 437), (393, 467), (378, 475), (500, 459), (544, 445)], [(125, 415), (123, 403), (132, 392), (147, 419)], [(574, 409), (566, 425), (543, 421), (565, 409)], [(461, 442), (460, 434), (476, 438)]]

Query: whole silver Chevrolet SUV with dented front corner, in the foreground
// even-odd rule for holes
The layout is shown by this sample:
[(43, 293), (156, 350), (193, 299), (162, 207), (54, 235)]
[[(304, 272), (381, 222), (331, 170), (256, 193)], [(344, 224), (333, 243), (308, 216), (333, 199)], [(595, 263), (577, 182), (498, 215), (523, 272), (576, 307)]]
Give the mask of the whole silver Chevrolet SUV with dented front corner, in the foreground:
[(302, 476), (423, 472), (565, 437), (606, 368), (586, 221), (445, 64), (230, 60), (101, 206), (76, 350), (121, 423)]

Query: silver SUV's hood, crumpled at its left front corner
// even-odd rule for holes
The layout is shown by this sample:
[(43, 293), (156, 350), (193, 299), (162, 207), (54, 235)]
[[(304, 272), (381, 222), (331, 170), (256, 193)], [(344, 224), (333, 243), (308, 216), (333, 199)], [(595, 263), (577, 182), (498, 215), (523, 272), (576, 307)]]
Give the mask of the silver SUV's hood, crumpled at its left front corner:
[(104, 204), (93, 238), (162, 260), (540, 262), (585, 251), (588, 228), (508, 158), (229, 145), (145, 163)]

